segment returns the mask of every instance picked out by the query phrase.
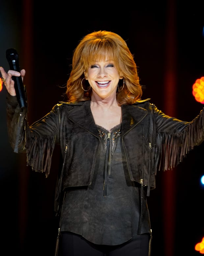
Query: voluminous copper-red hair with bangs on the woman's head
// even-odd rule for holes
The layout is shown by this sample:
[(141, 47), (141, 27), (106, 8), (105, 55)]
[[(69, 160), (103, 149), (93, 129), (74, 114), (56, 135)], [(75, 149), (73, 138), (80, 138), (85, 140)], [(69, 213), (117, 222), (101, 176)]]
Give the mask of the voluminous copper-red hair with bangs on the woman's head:
[[(133, 104), (140, 100), (142, 86), (139, 82), (137, 66), (126, 42), (118, 35), (110, 31), (94, 31), (82, 38), (73, 52), (72, 70), (66, 84), (66, 96), (68, 102), (79, 102), (91, 98), (92, 89), (82, 80), (84, 71), (87, 70), (96, 59), (113, 59), (115, 67), (123, 81), (119, 81), (116, 91), (116, 99), (119, 104)], [(120, 85), (121, 84), (121, 85)], [(123, 87), (124, 85), (124, 87)], [(90, 89), (89, 89), (90, 88)]]

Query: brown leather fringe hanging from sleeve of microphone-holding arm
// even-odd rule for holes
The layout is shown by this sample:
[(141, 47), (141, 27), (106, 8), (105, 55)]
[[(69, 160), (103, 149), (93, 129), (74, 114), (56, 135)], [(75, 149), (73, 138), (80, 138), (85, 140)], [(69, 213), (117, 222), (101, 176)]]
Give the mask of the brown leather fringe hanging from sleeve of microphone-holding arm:
[(38, 172), (50, 173), (51, 159), (55, 147), (56, 137), (31, 138), (27, 142), (27, 165)]

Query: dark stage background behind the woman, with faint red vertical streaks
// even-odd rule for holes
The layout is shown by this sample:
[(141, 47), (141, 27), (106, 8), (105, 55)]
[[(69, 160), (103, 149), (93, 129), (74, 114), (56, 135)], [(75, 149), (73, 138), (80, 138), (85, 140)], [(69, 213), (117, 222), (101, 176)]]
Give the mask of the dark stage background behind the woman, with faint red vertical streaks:
[[(168, 115), (172, 112), (166, 107), (169, 99), (166, 73), (169, 58), (173, 57), (172, 111), (177, 118), (191, 121), (203, 107), (192, 95), (193, 83), (204, 76), (203, 7), (203, 2), (197, 0), (188, 4), (176, 0), (122, 3), (2, 0), (0, 65), (9, 69), (6, 50), (16, 48), (21, 68), (26, 69), (24, 83), (32, 124), (64, 100), (72, 53), (79, 40), (94, 30), (113, 31), (126, 40), (134, 54), (140, 83), (145, 87), (142, 98), (151, 98)], [(0, 92), (0, 241), (5, 253), (2, 255), (52, 256), (58, 232), (53, 206), (60, 154), (56, 147), (51, 174), (45, 178), (26, 166), (25, 155), (13, 153), (7, 135), (5, 98), (3, 88)], [(157, 174), (157, 188), (148, 198), (152, 256), (200, 255), (194, 246), (204, 237), (204, 190), (200, 184), (204, 174), (203, 152), (204, 145), (197, 146), (177, 168)], [(173, 177), (168, 188), (173, 209), (165, 192), (169, 175)], [(166, 212), (170, 213), (167, 219)], [(173, 232), (166, 230), (166, 222), (172, 225)], [(168, 240), (169, 233), (171, 240)]]

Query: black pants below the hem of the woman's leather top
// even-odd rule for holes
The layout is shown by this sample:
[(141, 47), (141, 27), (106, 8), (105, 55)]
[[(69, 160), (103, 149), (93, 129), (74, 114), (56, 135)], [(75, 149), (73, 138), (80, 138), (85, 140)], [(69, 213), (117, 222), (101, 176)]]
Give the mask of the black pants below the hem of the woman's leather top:
[(61, 233), (60, 256), (149, 256), (150, 235), (135, 236), (120, 245), (97, 245), (71, 232)]

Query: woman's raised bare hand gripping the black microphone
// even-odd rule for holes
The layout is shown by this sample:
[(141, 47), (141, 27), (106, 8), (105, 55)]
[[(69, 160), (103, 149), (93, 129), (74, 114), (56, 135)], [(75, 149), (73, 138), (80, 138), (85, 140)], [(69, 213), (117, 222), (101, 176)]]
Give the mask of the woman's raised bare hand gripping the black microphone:
[(15, 92), (14, 81), (12, 80), (12, 76), (21, 76), (23, 81), (23, 77), (25, 76), (25, 69), (22, 69), (20, 72), (9, 70), (8, 73), (6, 73), (4, 68), (0, 67), (0, 72), (2, 77), (6, 80), (4, 82), (6, 90), (9, 92), (9, 94), (11, 94), (12, 96), (15, 96), (16, 92)]

